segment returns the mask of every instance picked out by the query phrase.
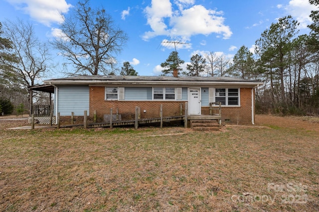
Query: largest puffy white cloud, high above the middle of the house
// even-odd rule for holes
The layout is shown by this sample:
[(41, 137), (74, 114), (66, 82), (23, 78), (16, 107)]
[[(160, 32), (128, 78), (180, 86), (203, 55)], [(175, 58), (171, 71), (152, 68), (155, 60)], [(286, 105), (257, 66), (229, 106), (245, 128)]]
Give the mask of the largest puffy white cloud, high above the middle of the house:
[(221, 34), (227, 39), (232, 35), (229, 26), (224, 24), (221, 11), (206, 9), (202, 5), (184, 9), (184, 6), (194, 2), (175, 0), (178, 10), (174, 10), (169, 0), (152, 0), (152, 5), (144, 10), (152, 31), (145, 32), (143, 39), (149, 40), (158, 35), (175, 35), (189, 40), (192, 35), (211, 33)]

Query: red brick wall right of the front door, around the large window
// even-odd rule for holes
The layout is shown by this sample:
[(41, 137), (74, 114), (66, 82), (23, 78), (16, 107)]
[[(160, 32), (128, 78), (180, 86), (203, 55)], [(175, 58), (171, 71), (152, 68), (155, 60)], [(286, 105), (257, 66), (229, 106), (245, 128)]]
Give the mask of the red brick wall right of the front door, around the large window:
[[(251, 89), (240, 88), (240, 107), (221, 108), (222, 122), (229, 119), (231, 124), (252, 124), (251, 120)], [(209, 114), (209, 107), (202, 107), (202, 114)], [(227, 122), (226, 122), (227, 124)]]

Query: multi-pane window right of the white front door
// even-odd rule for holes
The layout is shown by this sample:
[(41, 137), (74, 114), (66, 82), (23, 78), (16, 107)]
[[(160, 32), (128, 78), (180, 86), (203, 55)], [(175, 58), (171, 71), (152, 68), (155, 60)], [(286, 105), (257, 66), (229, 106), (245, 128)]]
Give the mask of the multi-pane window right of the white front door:
[(215, 88), (215, 102), (226, 106), (239, 106), (239, 88)]

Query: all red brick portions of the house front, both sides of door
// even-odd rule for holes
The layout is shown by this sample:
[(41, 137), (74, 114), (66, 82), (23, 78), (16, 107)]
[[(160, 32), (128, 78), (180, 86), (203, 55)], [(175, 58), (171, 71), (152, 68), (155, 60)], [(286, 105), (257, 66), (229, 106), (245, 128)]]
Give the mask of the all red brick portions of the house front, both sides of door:
[[(240, 89), (240, 107), (222, 107), (222, 120), (229, 119), (231, 124), (252, 124), (251, 115), (251, 89)], [(163, 116), (179, 116), (180, 104), (182, 104), (182, 115), (185, 111), (185, 101), (117, 101), (104, 100), (104, 87), (90, 87), (90, 117), (88, 120), (93, 121), (94, 110), (97, 112), (97, 121), (103, 121), (104, 114), (110, 114), (110, 109), (113, 108), (113, 114), (116, 114), (117, 108), (122, 120), (135, 119), (135, 107), (141, 108), (141, 118), (157, 118), (160, 117), (160, 104), (163, 105)], [(146, 113), (143, 111), (146, 110)], [(202, 107), (202, 114), (209, 114), (209, 107)], [(68, 122), (71, 117), (61, 117), (63, 122)], [(83, 122), (82, 117), (76, 117), (75, 123)], [(65, 123), (65, 124), (66, 124)], [(227, 122), (226, 122), (227, 123)]]

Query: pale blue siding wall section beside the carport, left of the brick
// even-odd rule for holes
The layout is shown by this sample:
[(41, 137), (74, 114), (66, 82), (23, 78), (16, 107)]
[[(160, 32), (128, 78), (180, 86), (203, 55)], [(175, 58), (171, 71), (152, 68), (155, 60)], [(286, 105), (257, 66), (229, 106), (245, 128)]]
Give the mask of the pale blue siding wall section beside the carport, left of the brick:
[(90, 105), (89, 86), (58, 86), (58, 111), (61, 116), (83, 116)]

